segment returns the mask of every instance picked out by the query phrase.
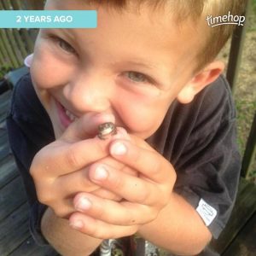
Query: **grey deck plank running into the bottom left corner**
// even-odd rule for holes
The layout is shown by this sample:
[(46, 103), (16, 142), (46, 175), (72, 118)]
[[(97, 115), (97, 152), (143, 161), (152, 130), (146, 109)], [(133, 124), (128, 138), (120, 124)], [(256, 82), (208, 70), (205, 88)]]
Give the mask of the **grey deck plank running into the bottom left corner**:
[[(26, 212), (26, 214), (24, 213)], [(22, 204), (17, 211), (0, 222), (0, 255), (7, 256), (29, 236), (28, 205)]]

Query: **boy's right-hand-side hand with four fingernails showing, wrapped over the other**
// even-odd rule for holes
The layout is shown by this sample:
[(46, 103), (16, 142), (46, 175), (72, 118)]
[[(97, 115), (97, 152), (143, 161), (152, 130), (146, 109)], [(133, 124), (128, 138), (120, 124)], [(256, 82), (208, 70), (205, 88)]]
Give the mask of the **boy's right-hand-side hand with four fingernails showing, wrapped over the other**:
[[(90, 180), (123, 200), (79, 193), (73, 201), (78, 212), (69, 218), (74, 229), (102, 239), (130, 236), (157, 218), (168, 204), (176, 181), (172, 165), (139, 138), (133, 137), (132, 142), (114, 140), (109, 151), (124, 166), (113, 168), (96, 162), (90, 166)], [(138, 176), (127, 174), (127, 169)]]

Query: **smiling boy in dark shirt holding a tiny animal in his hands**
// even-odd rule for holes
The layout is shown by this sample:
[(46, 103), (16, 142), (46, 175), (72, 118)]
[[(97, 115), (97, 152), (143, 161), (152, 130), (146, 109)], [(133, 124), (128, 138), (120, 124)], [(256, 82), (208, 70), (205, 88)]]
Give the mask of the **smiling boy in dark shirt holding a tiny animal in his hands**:
[[(106, 2), (47, 1), (96, 9), (98, 26), (41, 30), (31, 76), (15, 89), (9, 138), (32, 234), (61, 255), (135, 233), (171, 253), (210, 255), (240, 158), (224, 64), (214, 61), (232, 28), (206, 17), (241, 15), (244, 1)], [(102, 140), (106, 122), (117, 134)]]

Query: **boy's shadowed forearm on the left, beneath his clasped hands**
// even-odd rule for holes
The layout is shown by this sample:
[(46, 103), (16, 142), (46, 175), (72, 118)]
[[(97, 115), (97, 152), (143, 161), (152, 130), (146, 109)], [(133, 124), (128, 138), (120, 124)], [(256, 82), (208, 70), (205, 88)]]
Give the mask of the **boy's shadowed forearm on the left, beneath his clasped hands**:
[(50, 208), (44, 213), (41, 227), (47, 241), (63, 256), (90, 255), (102, 242), (73, 230), (68, 220), (56, 217)]

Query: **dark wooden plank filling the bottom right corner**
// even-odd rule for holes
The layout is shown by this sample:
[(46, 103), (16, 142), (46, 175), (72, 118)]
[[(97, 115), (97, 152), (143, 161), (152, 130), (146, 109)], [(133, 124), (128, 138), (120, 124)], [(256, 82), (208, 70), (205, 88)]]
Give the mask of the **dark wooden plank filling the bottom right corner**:
[(256, 255), (256, 213), (239, 232), (236, 240), (223, 253), (223, 256)]

